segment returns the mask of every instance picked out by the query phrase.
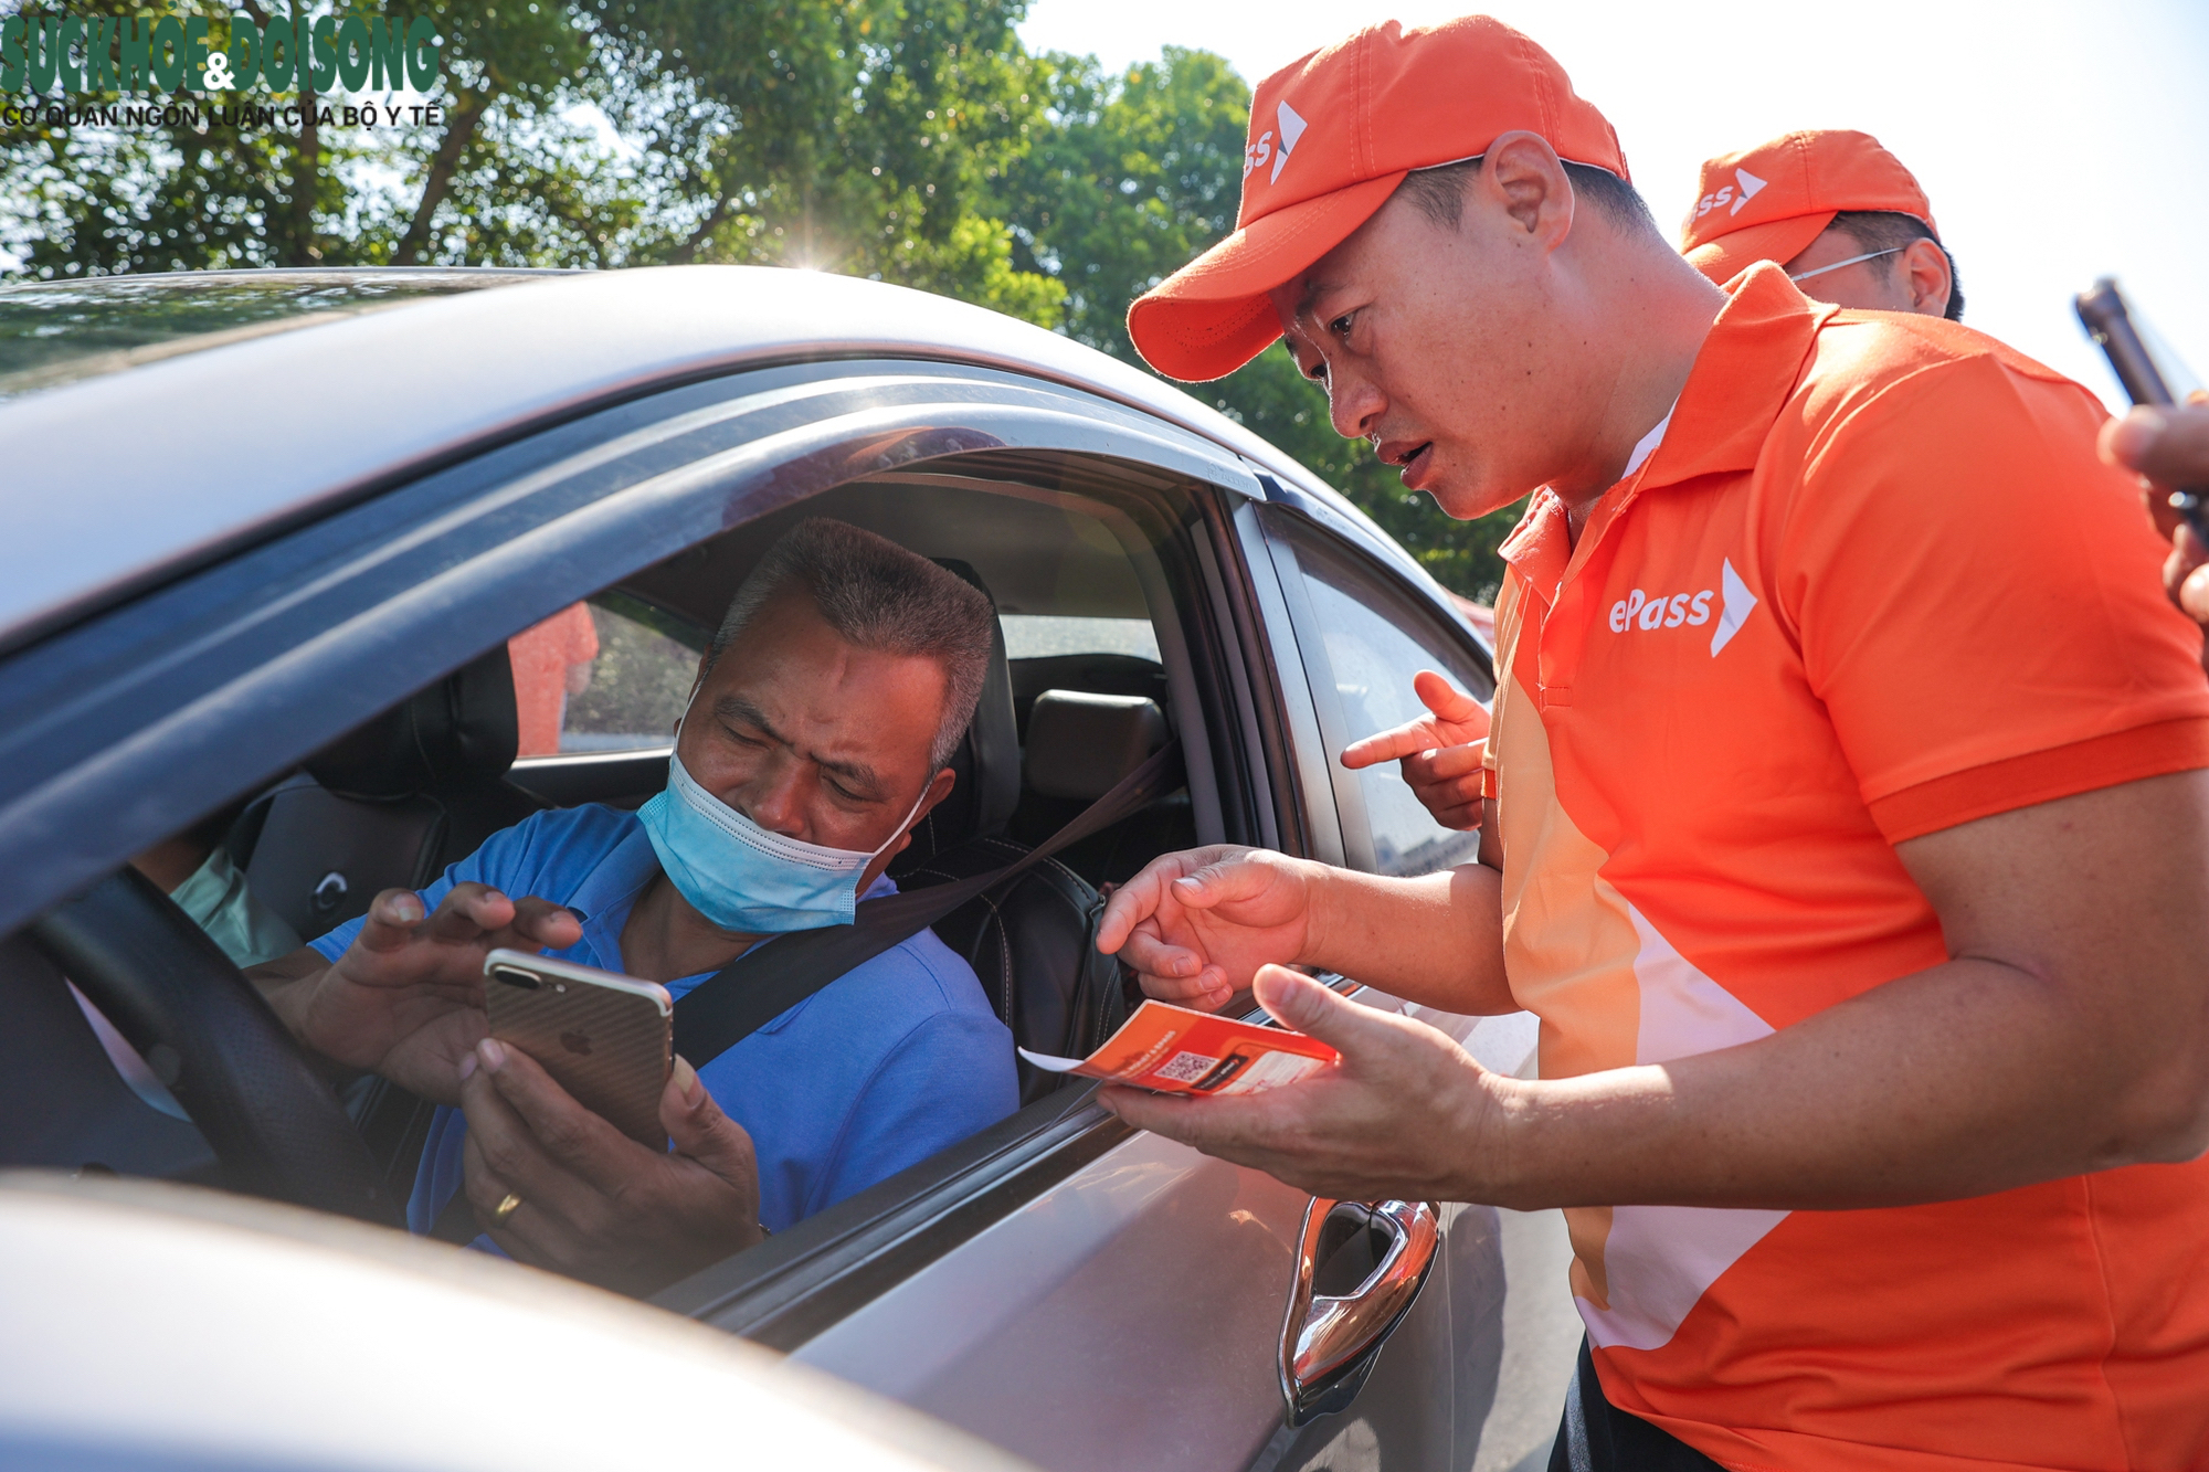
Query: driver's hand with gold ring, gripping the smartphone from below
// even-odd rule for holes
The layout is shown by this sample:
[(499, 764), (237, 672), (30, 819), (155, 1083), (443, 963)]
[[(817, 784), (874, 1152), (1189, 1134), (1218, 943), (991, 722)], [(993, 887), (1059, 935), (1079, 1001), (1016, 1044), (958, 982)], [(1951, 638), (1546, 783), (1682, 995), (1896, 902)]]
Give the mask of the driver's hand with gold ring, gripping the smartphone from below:
[[(462, 1070), (468, 1205), (517, 1262), (645, 1295), (760, 1240), (751, 1136), (687, 1061), (660, 1094), (672, 1154), (579, 1105), (519, 1048), (484, 1039)], [(495, 1222), (508, 1196), (521, 1205)]]

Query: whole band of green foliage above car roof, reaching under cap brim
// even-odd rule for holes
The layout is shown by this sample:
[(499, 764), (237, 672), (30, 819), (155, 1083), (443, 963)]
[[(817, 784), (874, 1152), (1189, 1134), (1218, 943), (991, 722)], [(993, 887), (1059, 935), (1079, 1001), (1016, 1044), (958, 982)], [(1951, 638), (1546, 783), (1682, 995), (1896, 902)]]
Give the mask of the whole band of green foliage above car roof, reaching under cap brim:
[[(236, 4), (267, 15), (263, 0)], [(228, 38), (230, 4), (172, 9)], [(0, 250), (33, 278), (806, 265), (972, 301), (1135, 362), (1129, 303), (1235, 225), (1250, 88), (1180, 46), (1120, 75), (1032, 57), (1012, 31), (1023, 9), (426, 0), (413, 13), (444, 40), (437, 124), (0, 128)], [(1332, 431), (1325, 393), (1286, 351), (1191, 391), (1339, 486), (1445, 586), (1493, 597), (1511, 513), (1451, 522), (1405, 493)]]

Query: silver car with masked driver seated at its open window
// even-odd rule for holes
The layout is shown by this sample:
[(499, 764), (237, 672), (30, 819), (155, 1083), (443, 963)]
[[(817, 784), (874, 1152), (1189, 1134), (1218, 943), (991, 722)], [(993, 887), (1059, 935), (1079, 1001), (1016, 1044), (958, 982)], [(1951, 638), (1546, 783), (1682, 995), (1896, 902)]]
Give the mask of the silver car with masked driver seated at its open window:
[[(1155, 853), (1423, 873), (1471, 849), (1392, 769), (1334, 760), (1416, 712), (1416, 670), (1493, 690), (1403, 548), (1195, 400), (934, 296), (751, 267), (11, 287), (0, 488), (0, 1165), (38, 1171), (4, 1178), (0, 1242), (31, 1242), (22, 1202), (139, 1211), (163, 1242), (205, 1218), (133, 1182), (393, 1224), (420, 1101), (334, 1094), (124, 864), (221, 847), (314, 937), (530, 811), (645, 800), (696, 652), (802, 515), (954, 564), (1001, 612), (959, 787), (892, 869), (908, 889), (1003, 864), (1180, 743), (1166, 798), (939, 922), (1027, 1048), (1116, 1026), (1098, 891)], [(568, 630), (550, 656), (546, 630)], [(1526, 1014), (1420, 1014), (1489, 1068), (1533, 1052)], [(669, 1286), (658, 1317), (1067, 1472), (1546, 1457), (1577, 1344), (1553, 1220), (1312, 1200), (1131, 1132), (1080, 1081), (1023, 1072), (1021, 1092), (1003, 1123)], [(384, 1240), (347, 1231), (345, 1251)], [(82, 1253), (53, 1271), (80, 1324), (155, 1313)], [(194, 1319), (201, 1350), (269, 1353), (247, 1328), (265, 1293), (232, 1291), (236, 1322)], [(548, 1313), (590, 1297), (541, 1291)], [(287, 1302), (327, 1335), (360, 1291)], [(11, 1322), (7, 1361), (62, 1353), (29, 1328), (51, 1315)], [(404, 1421), (409, 1370), (387, 1370), (373, 1395)], [(0, 1395), (0, 1457), (13, 1437), (121, 1465), (99, 1423), (24, 1426)], [(345, 1465), (431, 1465), (409, 1445), (362, 1430)]]

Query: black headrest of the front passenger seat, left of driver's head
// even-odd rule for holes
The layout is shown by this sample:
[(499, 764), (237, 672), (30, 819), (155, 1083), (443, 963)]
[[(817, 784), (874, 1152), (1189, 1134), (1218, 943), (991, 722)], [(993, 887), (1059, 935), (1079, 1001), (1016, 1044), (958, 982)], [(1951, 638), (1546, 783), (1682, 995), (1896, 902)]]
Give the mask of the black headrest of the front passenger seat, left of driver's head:
[(307, 776), (353, 798), (406, 798), (499, 776), (521, 745), (515, 672), (497, 645), (307, 758)]

